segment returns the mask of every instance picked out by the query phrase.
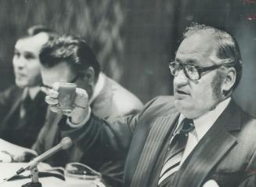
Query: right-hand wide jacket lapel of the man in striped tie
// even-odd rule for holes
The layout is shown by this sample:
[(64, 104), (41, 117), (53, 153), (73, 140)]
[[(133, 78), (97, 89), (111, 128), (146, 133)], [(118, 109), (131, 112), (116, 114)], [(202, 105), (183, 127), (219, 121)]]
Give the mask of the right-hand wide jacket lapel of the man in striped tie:
[(211, 169), (236, 146), (236, 138), (229, 131), (239, 129), (240, 112), (232, 101), (186, 158), (170, 186), (201, 186)]

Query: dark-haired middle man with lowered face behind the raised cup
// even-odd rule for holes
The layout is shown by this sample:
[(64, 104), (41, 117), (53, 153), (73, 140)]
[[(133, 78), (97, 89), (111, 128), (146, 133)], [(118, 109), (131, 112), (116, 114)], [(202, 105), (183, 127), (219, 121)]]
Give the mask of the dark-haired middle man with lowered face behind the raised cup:
[[(42, 81), (46, 88), (56, 81), (75, 83), (78, 88), (88, 92), (89, 105), (97, 117), (121, 117), (137, 113), (142, 108), (142, 102), (135, 95), (100, 71), (92, 49), (81, 38), (65, 35), (50, 41), (41, 50), (40, 61)], [(47, 121), (33, 146), (34, 150), (43, 153), (59, 143), (60, 120), (66, 120), (65, 116), (49, 111)], [(73, 146), (46, 162), (53, 166), (63, 166), (68, 162), (80, 161), (102, 172), (107, 185), (120, 186), (124, 159), (114, 160), (101, 155), (96, 147), (82, 152)]]

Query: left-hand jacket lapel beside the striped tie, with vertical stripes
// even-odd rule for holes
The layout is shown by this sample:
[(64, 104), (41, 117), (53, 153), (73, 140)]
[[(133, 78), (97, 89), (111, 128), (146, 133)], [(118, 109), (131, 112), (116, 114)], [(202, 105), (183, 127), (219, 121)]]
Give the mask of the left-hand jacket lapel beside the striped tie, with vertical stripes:
[(166, 117), (157, 117), (150, 125), (150, 131), (146, 138), (146, 144), (142, 149), (139, 163), (135, 169), (131, 186), (146, 186), (153, 170), (154, 164), (164, 146), (164, 140), (175, 126), (179, 113), (173, 113)]

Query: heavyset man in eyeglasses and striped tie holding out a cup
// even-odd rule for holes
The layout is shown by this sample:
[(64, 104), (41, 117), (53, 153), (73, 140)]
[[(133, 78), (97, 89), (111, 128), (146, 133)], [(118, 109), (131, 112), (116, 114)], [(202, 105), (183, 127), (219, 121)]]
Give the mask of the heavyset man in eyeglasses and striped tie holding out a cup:
[[(123, 186), (255, 186), (256, 120), (232, 98), (242, 74), (235, 39), (195, 24), (169, 68), (174, 97), (157, 97), (128, 117), (100, 120), (78, 89), (80, 106), (68, 114), (77, 128), (63, 123), (63, 132), (81, 149), (126, 156)], [(61, 110), (57, 88), (46, 96), (54, 111)]]

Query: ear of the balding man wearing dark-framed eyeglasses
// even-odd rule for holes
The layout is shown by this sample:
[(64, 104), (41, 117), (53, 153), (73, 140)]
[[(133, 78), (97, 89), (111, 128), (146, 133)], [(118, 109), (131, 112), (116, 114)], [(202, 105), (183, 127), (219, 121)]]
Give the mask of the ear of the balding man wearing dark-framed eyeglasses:
[(229, 93), (236, 81), (236, 69), (234, 67), (227, 67), (225, 69), (224, 81), (222, 90), (224, 93)]

